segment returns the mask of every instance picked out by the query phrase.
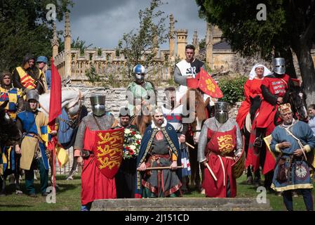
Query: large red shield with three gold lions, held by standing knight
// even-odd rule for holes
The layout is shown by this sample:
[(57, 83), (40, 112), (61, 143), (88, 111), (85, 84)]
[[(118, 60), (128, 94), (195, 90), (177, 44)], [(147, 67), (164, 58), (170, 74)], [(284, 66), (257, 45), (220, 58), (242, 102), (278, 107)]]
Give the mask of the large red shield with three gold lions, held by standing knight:
[(119, 170), (123, 159), (123, 128), (96, 131), (94, 154), (96, 165), (108, 179)]

